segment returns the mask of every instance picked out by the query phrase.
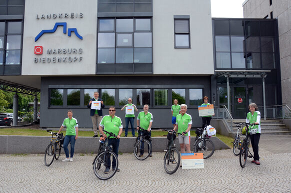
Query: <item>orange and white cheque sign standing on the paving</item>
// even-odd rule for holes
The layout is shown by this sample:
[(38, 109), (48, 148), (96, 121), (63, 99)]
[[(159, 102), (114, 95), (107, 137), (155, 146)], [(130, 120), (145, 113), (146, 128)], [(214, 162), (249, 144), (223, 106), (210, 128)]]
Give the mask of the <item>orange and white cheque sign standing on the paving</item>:
[(203, 153), (181, 154), (182, 169), (204, 169)]

